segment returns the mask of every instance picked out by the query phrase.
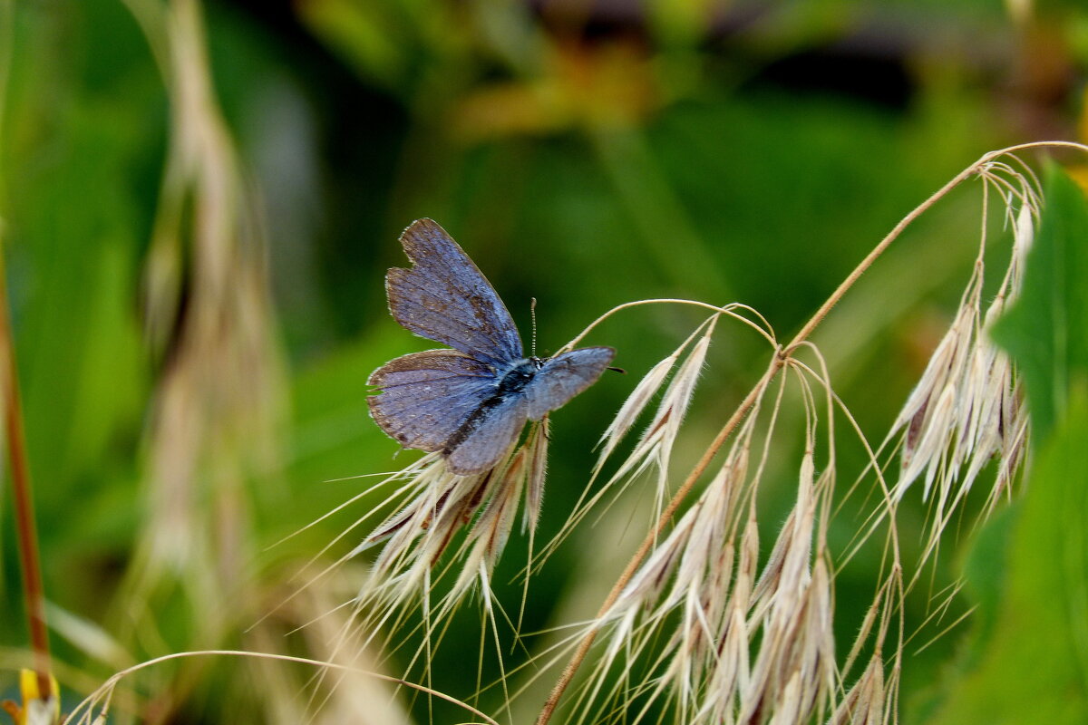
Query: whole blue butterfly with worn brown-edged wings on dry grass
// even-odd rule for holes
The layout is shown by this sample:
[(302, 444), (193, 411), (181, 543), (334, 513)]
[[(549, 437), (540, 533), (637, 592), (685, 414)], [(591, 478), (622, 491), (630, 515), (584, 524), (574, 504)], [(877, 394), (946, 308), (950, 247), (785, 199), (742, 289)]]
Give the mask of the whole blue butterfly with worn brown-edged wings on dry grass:
[(503, 300), (445, 229), (421, 218), (400, 243), (413, 266), (385, 275), (390, 312), (405, 329), (453, 349), (413, 352), (375, 370), (370, 414), (405, 448), (441, 451), (453, 473), (483, 473), (527, 421), (593, 385), (616, 351), (527, 358)]

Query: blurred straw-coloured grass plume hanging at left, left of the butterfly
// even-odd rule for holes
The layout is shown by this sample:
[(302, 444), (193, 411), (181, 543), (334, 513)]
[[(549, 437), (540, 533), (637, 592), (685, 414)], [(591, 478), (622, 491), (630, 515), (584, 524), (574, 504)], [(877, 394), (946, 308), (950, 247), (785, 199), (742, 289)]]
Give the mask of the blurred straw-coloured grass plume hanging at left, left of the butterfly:
[[(257, 647), (273, 640), (259, 628), (239, 636), (264, 598), (250, 485), (279, 465), (286, 386), (256, 192), (214, 96), (200, 4), (127, 4), (159, 62), (170, 136), (143, 289), (161, 368), (141, 461), (145, 515), (113, 620), (132, 657), (180, 642)], [(164, 601), (184, 612), (169, 636)], [(161, 678), (157, 716), (184, 702), (207, 666), (149, 671)], [(269, 710), (273, 701), (262, 700)]]

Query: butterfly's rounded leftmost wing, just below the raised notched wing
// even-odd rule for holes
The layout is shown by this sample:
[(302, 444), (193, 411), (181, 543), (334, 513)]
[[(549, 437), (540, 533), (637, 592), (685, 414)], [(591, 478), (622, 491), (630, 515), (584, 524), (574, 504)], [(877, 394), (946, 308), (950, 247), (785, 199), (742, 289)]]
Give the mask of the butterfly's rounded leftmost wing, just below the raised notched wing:
[(437, 451), (494, 390), (492, 370), (456, 350), (426, 350), (392, 360), (368, 383), (370, 414), (406, 448)]

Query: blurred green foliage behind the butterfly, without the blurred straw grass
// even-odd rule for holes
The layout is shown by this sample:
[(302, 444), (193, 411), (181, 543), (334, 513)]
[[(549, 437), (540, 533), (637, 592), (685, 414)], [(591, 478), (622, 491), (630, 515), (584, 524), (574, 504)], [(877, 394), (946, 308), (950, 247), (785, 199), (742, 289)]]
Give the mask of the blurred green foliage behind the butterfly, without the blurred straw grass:
[[(101, 623), (124, 607), (114, 597), (143, 520), (162, 372), (139, 300), (169, 101), (161, 45), (129, 12), (159, 4), (0, 0), (0, 234), (46, 586)], [(248, 491), (261, 543), (366, 485), (325, 482), (412, 455), (393, 458), (364, 397), (373, 368), (430, 345), (393, 323), (382, 286), (384, 270), (404, 263), (396, 235), (413, 218), (434, 217), (460, 241), (527, 341), (537, 298), (541, 352), (615, 304), (656, 297), (742, 301), (784, 338), (966, 163), (1025, 138), (1072, 136), (1088, 61), (1088, 21), (1072, 2), (1047, 3), (1022, 26), (990, 1), (605, 4), (207, 4), (219, 101), (259, 189), (289, 368), (282, 467)], [(972, 190), (923, 218), (858, 288), (864, 303), (848, 298), (817, 336), (867, 429), (887, 426), (924, 367), (966, 278), (978, 210)], [(604, 378), (555, 416), (539, 540), (584, 487), (592, 445), (631, 379), (698, 320), (646, 309), (593, 335), (631, 376)], [(718, 338), (685, 453), (714, 435), (766, 352), (739, 328)], [(843, 458), (863, 465), (860, 451)], [(784, 490), (792, 474), (782, 476)], [(262, 552), (258, 576), (280, 584), (282, 564), (314, 554), (373, 499)], [(771, 530), (784, 505), (768, 493)], [(908, 549), (925, 515), (912, 505)], [(4, 514), (2, 605), (15, 613)], [(845, 546), (852, 530), (848, 520), (831, 538)], [(579, 547), (594, 540), (592, 529), (581, 536)], [(512, 542), (500, 586), (524, 546)], [(579, 564), (577, 549), (564, 550), (534, 582), (527, 629), (547, 626)], [(848, 637), (878, 565), (863, 555), (840, 576)], [(925, 595), (910, 605), (920, 623)], [(172, 641), (187, 628), (166, 614)], [(461, 629), (460, 646), (478, 648)], [(23, 641), (17, 616), (0, 632)], [(908, 661), (904, 702), (955, 641)], [(440, 653), (435, 685), (465, 691), (474, 672), (457, 650)], [(63, 641), (58, 653), (95, 676), (112, 671)]]

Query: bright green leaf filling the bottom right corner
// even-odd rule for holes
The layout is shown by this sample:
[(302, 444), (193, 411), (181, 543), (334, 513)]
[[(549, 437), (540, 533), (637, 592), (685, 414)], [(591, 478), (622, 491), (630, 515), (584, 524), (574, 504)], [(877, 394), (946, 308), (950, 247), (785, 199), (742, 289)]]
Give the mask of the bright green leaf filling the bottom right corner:
[(1088, 722), (1086, 392), (1078, 390), (1031, 474), (981, 662), (952, 685), (932, 723)]

